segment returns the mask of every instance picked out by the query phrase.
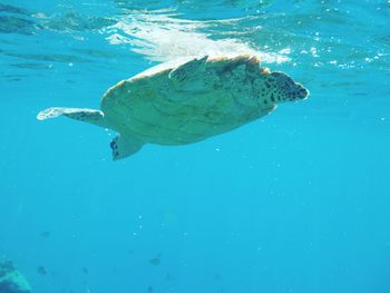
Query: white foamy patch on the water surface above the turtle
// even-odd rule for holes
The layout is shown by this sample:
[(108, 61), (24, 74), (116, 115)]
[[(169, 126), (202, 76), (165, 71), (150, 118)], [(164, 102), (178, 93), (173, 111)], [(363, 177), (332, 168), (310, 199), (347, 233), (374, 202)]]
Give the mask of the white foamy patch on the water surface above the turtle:
[[(213, 39), (209, 31), (216, 27), (234, 26), (240, 19), (197, 21), (178, 18), (170, 13), (133, 11), (109, 27), (107, 40), (111, 45), (129, 45), (130, 50), (150, 61), (166, 62), (186, 60), (202, 56), (236, 56), (241, 53), (259, 57), (269, 64), (289, 61), (286, 53), (261, 52), (237, 38)], [(203, 30), (203, 31), (202, 31)], [(207, 30), (207, 32), (205, 32)], [(221, 31), (220, 31), (221, 32)], [(227, 35), (228, 31), (223, 31)]]

